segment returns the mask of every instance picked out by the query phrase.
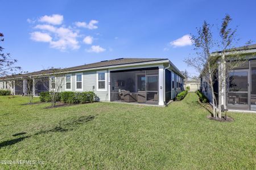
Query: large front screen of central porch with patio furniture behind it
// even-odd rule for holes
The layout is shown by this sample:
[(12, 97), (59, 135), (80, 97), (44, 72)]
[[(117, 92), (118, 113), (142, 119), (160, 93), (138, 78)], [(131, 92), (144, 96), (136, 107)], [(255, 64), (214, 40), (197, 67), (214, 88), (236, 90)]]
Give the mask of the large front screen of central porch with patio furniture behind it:
[(110, 100), (158, 104), (158, 67), (110, 71)]

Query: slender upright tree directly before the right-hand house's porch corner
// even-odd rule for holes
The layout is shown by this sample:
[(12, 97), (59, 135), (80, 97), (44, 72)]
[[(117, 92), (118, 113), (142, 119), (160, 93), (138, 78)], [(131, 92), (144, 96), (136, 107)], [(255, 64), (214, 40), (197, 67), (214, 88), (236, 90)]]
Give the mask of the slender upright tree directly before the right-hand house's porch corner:
[[(243, 65), (249, 59), (249, 57), (241, 53), (240, 50), (234, 48), (234, 45), (237, 44), (239, 39), (237, 39), (236, 36), (237, 27), (230, 28), (230, 22), (232, 22), (232, 18), (226, 14), (225, 18), (222, 19), (221, 28), (219, 31), (220, 42), (217, 42), (217, 47), (220, 52), (215, 54), (215, 56), (220, 57), (219, 74), (217, 76), (220, 95), (218, 105), (219, 118), (221, 118), (221, 104), (223, 104), (224, 96), (228, 93), (226, 89), (229, 88), (227, 86), (227, 82), (229, 81), (229, 71)], [(248, 49), (248, 45), (250, 44), (251, 42), (248, 41), (242, 50)]]

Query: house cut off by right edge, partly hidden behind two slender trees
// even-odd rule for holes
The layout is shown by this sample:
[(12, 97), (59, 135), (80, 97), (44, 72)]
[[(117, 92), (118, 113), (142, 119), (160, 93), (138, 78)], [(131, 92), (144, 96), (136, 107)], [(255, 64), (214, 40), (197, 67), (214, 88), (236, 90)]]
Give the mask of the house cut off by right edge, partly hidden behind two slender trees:
[[(246, 46), (246, 50), (245, 46), (232, 49), (228, 51), (228, 54), (232, 54), (233, 50), (245, 55), (247, 59), (244, 65), (228, 71), (226, 76), (229, 81), (225, 83), (224, 96), (219, 95), (220, 84), (217, 81), (214, 82), (213, 88), (217, 104), (222, 97), (221, 105), (229, 110), (256, 111), (256, 44)], [(220, 52), (215, 54), (218, 53)], [(218, 71), (218, 76), (220, 76), (220, 71)], [(209, 82), (205, 80), (204, 76), (201, 76), (201, 91), (212, 103), (212, 92)]]

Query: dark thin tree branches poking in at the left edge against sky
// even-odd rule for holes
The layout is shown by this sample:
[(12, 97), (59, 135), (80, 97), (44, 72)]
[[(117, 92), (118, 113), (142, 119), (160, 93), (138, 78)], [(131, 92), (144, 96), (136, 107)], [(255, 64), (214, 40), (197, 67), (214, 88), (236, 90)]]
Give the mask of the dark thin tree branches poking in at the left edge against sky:
[[(0, 32), (0, 41), (3, 42), (3, 33)], [(6, 76), (13, 74), (14, 71), (18, 71), (21, 68), (15, 66), (15, 63), (18, 62), (16, 59), (12, 59), (10, 53), (3, 52), (5, 48), (0, 45), (0, 76)]]

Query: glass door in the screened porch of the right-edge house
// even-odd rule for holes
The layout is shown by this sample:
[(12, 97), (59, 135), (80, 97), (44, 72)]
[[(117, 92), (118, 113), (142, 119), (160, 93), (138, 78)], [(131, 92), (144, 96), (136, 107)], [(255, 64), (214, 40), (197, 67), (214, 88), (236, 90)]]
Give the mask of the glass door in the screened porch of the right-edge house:
[(248, 87), (248, 70), (233, 70), (229, 72), (228, 109), (249, 109)]

